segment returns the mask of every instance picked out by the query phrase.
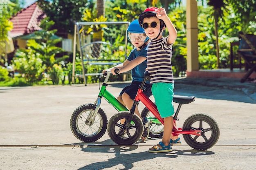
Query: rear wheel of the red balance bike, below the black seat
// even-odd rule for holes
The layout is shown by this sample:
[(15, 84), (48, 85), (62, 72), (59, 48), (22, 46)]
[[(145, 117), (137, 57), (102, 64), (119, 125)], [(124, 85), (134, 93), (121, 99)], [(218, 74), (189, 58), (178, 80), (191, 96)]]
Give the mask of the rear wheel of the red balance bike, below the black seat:
[(195, 150), (207, 150), (213, 147), (219, 137), (220, 128), (217, 122), (209, 115), (196, 113), (188, 117), (182, 130), (202, 130), (201, 136), (183, 135), (185, 142)]

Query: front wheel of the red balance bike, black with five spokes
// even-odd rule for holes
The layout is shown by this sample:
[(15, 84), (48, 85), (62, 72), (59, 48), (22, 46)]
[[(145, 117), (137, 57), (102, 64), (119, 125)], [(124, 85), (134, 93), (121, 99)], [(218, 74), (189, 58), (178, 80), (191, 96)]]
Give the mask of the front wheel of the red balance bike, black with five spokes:
[[(121, 119), (127, 120), (128, 117), (130, 117), (130, 111), (121, 111), (113, 115), (108, 121), (108, 135), (118, 145), (132, 145), (142, 136), (144, 126), (141, 118), (136, 114), (132, 117), (133, 123), (130, 127), (120, 124)], [(125, 135), (123, 135), (124, 132), (126, 132)]]

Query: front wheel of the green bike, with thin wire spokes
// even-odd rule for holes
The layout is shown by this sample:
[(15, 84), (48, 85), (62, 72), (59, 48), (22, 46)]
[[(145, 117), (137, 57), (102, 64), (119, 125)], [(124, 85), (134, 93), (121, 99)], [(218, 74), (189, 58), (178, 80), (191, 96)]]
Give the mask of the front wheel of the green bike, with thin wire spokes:
[(96, 108), (95, 104), (83, 104), (74, 110), (70, 119), (70, 128), (74, 136), (84, 142), (94, 142), (99, 140), (107, 130), (108, 119), (105, 112), (99, 108), (94, 124), (86, 125), (90, 112)]

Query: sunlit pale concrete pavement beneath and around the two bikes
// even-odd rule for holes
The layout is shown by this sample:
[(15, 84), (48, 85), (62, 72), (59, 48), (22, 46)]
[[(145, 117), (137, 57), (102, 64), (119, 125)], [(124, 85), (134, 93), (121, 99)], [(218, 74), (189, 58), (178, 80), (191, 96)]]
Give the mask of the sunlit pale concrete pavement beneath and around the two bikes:
[[(117, 96), (129, 82), (112, 82)], [(70, 130), (72, 112), (93, 103), (98, 84), (0, 87), (0, 170), (241, 170), (256, 169), (256, 84), (239, 79), (175, 79), (175, 94), (196, 97), (183, 105), (178, 126), (193, 113), (211, 115), (220, 138), (207, 151), (197, 151), (183, 140), (173, 152), (152, 154), (148, 148), (161, 139), (118, 146), (105, 133), (94, 143), (83, 143)], [(117, 113), (104, 99), (108, 119)], [(139, 109), (144, 108), (143, 104)]]

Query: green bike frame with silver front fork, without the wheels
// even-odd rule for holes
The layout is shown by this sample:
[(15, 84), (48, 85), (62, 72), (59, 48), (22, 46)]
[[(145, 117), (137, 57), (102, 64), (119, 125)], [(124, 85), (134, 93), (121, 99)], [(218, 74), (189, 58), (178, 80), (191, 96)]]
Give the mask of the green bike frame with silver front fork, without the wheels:
[(102, 97), (104, 97), (107, 100), (107, 102), (109, 104), (111, 104), (117, 111), (119, 111), (119, 112), (126, 111), (126, 110), (128, 111), (128, 109), (123, 104), (121, 104), (109, 91), (106, 90), (106, 87), (108, 86), (108, 79), (111, 75), (111, 71), (107, 71), (106, 73), (100, 75), (99, 77), (103, 77), (105, 75), (106, 75), (106, 78), (101, 86), (99, 95), (98, 95), (96, 101), (94, 102), (94, 104), (96, 105), (96, 108), (93, 112), (89, 113), (89, 115), (85, 121), (85, 124), (87, 124), (87, 125), (94, 124), (95, 116), (98, 113), (99, 108), (101, 106)]

